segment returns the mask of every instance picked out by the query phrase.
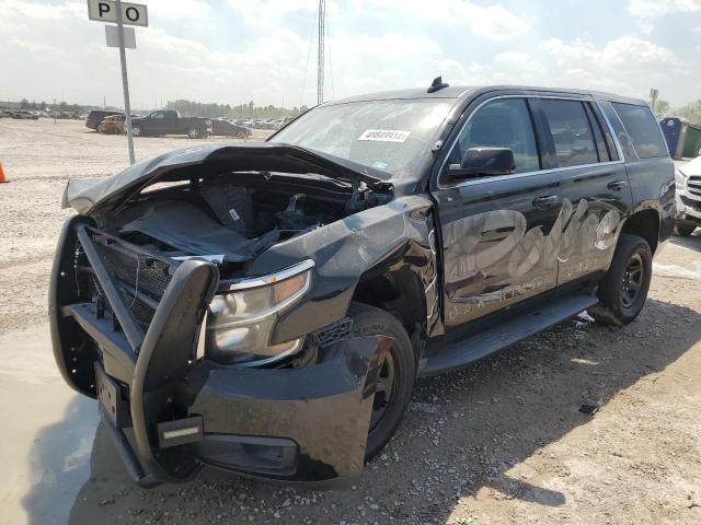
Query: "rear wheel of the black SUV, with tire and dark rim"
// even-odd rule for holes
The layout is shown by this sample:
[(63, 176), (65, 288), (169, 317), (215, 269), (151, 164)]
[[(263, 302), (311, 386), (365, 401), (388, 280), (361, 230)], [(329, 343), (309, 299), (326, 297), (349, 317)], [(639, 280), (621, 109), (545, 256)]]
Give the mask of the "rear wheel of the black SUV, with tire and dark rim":
[(623, 233), (609, 271), (599, 284), (599, 304), (589, 314), (599, 323), (623, 326), (643, 310), (653, 273), (653, 254), (643, 237)]

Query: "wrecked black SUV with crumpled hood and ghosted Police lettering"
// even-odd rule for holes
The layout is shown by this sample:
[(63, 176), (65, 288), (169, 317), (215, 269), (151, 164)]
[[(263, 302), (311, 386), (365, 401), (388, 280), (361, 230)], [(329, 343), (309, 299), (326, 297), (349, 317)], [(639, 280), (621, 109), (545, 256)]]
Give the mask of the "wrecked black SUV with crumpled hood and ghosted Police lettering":
[(643, 101), (436, 79), (78, 179), (65, 203), (56, 361), (134, 478), (329, 485), (417, 377), (584, 310), (633, 320), (675, 184)]

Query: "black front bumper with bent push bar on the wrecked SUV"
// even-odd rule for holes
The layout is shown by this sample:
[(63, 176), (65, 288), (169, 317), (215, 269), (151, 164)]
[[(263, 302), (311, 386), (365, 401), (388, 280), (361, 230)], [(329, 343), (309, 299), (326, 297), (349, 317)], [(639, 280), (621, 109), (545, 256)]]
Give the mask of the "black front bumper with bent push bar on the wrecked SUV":
[[(67, 221), (56, 254), (49, 292), (54, 353), (71, 387), (100, 398), (110, 435), (139, 483), (184, 481), (203, 464), (326, 486), (360, 474), (386, 338), (346, 339), (332, 358), (302, 369), (231, 369), (196, 360), (217, 268), (181, 264), (140, 334), (118, 295), (110, 296), (113, 276), (91, 256), (85, 222)], [(77, 243), (117, 323), (101, 317), (76, 287)]]

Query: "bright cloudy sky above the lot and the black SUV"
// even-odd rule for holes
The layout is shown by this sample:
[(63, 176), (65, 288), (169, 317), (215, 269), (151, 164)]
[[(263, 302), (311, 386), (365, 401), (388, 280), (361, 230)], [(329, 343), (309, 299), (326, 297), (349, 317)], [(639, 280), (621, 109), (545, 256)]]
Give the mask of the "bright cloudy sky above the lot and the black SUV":
[[(139, 2), (139, 0), (135, 0)], [(315, 0), (146, 0), (133, 106), (317, 100)], [(516, 83), (701, 98), (701, 0), (326, 0), (325, 97)], [(0, 0), (0, 100), (122, 105), (85, 1)], [(310, 52), (311, 51), (311, 52)]]

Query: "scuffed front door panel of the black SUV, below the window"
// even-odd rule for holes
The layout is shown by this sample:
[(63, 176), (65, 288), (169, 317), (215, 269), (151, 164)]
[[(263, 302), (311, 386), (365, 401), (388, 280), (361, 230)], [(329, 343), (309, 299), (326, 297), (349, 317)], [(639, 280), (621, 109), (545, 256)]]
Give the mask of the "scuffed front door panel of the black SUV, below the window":
[(443, 229), (446, 325), (457, 326), (556, 285), (560, 201), (552, 174), (498, 177), (434, 194)]

